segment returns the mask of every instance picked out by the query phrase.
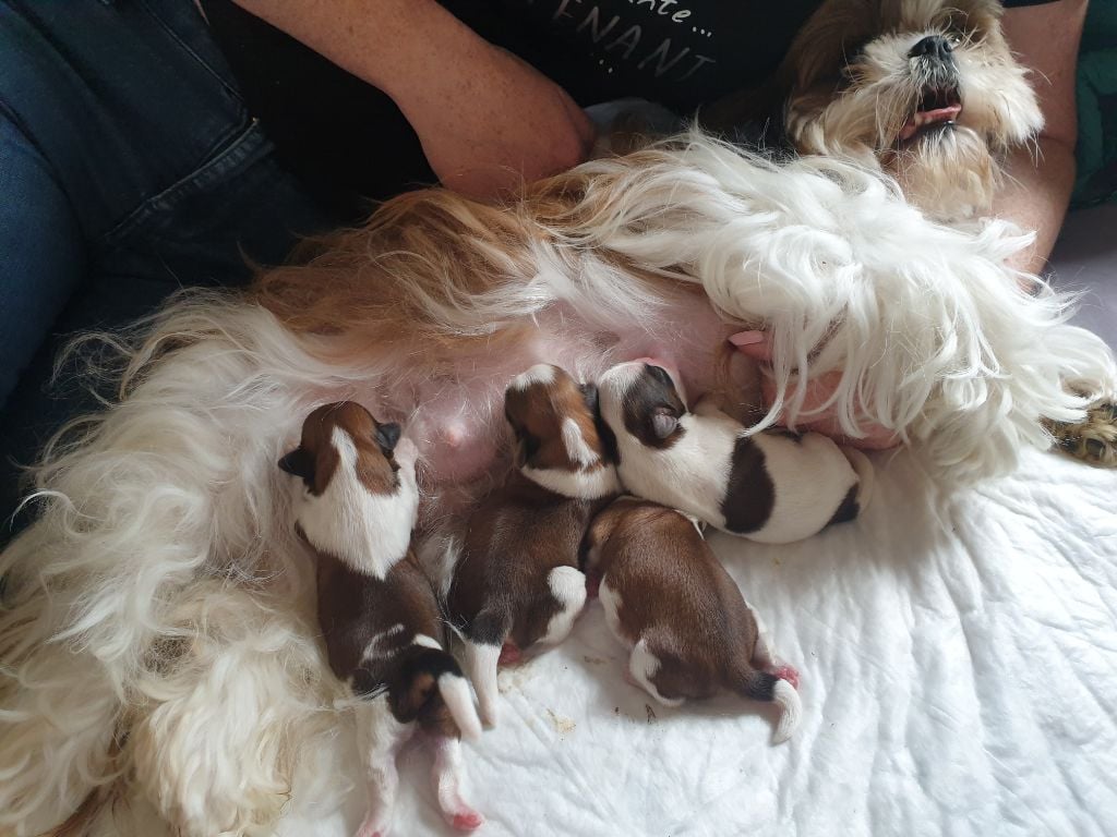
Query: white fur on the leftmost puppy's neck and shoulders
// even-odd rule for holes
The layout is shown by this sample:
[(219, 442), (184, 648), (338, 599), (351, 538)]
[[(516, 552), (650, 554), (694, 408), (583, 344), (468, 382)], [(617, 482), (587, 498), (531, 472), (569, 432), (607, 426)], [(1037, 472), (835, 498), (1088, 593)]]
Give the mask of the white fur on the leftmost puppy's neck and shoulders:
[(296, 519), (315, 549), (359, 573), (383, 579), (408, 551), (419, 510), (419, 489), (409, 468), (390, 494), (369, 491), (356, 473), (356, 448), (341, 427), (332, 443), (340, 462), (321, 496), (306, 488), (296, 497)]

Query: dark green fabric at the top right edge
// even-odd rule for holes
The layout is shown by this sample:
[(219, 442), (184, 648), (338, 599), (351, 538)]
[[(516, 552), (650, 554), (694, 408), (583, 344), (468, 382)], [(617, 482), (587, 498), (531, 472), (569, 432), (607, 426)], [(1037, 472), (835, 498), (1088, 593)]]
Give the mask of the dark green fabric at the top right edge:
[(1094, 0), (1078, 54), (1078, 179), (1071, 204), (1117, 201), (1117, 0)]

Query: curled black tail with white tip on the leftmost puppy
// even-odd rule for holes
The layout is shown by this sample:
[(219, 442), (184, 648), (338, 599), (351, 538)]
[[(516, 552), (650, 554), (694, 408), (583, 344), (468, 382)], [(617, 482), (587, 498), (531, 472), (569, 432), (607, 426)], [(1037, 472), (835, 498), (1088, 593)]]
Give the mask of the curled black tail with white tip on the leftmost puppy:
[(481, 735), (469, 681), (442, 648), (416, 647), (389, 683), (388, 696), (401, 721), (419, 721), (431, 732), (456, 732), (469, 741)]

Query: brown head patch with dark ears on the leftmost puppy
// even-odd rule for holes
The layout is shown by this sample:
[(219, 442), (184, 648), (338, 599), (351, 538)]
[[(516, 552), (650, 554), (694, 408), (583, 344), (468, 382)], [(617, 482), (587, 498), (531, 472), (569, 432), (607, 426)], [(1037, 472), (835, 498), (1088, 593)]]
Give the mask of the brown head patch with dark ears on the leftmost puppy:
[(279, 468), (299, 477), (316, 497), (330, 485), (341, 459), (334, 446), (334, 430), (345, 431), (356, 448), (356, 475), (374, 494), (389, 494), (400, 481), (393, 451), (400, 425), (381, 424), (360, 404), (342, 401), (324, 404), (303, 422), (298, 448), (279, 460)]

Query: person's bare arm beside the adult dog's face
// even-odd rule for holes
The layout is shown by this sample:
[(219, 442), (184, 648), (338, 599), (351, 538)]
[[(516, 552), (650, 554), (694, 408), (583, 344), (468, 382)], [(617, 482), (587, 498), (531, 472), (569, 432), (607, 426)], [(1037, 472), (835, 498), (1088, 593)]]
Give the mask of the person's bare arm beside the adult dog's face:
[(1087, 0), (1058, 0), (1004, 13), (1005, 38), (1032, 71), (1044, 127), (1035, 147), (1018, 147), (1011, 154), (993, 214), (1035, 230), (1035, 243), (1014, 259), (1014, 267), (1029, 272), (1047, 264), (1075, 185), (1075, 70), (1086, 7)]

